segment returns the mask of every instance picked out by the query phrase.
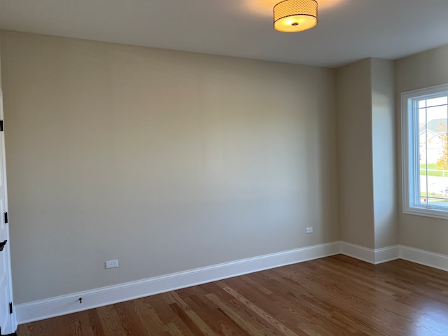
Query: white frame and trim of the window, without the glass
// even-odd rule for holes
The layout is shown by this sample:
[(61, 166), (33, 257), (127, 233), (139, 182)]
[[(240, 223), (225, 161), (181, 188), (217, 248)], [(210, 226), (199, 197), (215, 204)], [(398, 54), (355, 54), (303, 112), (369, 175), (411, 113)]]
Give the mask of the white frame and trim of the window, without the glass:
[(448, 219), (448, 207), (420, 204), (419, 123), (416, 102), (448, 95), (448, 84), (401, 94), (402, 206), (404, 214)]

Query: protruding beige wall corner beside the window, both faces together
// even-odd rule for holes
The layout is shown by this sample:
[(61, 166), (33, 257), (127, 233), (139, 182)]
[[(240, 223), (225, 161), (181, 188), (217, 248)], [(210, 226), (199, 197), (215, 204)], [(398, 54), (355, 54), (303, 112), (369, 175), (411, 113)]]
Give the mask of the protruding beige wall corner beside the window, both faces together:
[(398, 244), (393, 87), (386, 59), (337, 69), (340, 236), (372, 249)]

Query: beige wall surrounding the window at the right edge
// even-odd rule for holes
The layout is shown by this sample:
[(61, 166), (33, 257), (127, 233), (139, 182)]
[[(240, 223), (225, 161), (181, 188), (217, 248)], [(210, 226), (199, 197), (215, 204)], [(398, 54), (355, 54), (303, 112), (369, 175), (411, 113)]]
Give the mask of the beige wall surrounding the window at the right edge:
[[(398, 153), (401, 153), (401, 92), (448, 83), (448, 45), (395, 62)], [(398, 155), (398, 167), (401, 166)], [(400, 244), (448, 255), (446, 220), (402, 214), (401, 169), (398, 170)]]

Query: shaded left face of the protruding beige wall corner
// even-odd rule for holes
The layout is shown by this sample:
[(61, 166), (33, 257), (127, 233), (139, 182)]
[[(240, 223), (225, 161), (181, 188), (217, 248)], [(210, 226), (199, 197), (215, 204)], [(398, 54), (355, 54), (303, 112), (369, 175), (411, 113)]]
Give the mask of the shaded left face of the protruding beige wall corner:
[(340, 237), (374, 248), (370, 59), (337, 69)]

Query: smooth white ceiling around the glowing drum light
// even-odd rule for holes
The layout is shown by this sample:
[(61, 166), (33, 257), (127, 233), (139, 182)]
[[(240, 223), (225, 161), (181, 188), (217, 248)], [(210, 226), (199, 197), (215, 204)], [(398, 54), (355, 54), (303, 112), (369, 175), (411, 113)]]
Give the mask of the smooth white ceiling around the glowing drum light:
[(272, 28), (279, 0), (0, 0), (0, 29), (315, 66), (448, 44), (448, 0), (318, 0), (318, 25)]

